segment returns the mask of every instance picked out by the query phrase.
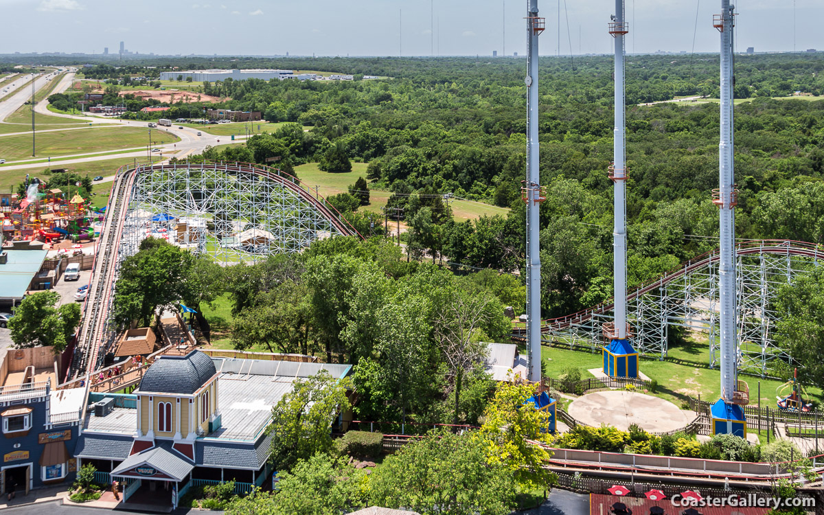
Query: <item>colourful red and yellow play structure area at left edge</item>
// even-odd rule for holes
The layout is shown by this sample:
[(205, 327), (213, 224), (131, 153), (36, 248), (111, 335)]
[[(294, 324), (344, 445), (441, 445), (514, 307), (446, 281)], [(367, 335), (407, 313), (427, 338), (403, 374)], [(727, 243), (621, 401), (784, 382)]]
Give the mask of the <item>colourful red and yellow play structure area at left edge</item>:
[(0, 225), (6, 241), (40, 239), (44, 243), (60, 240), (92, 240), (95, 229), (87, 211), (86, 199), (53, 188), (46, 190), (36, 177), (26, 177), (26, 197), (0, 194)]

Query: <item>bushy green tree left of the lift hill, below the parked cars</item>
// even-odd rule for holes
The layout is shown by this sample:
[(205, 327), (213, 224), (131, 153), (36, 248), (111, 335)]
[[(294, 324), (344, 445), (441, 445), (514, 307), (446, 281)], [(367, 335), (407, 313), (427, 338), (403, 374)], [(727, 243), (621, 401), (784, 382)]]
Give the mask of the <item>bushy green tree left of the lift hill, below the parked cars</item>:
[(80, 307), (76, 302), (54, 306), (60, 302), (56, 292), (38, 292), (24, 297), (8, 321), (12, 342), (18, 349), (51, 347), (63, 352), (80, 323)]

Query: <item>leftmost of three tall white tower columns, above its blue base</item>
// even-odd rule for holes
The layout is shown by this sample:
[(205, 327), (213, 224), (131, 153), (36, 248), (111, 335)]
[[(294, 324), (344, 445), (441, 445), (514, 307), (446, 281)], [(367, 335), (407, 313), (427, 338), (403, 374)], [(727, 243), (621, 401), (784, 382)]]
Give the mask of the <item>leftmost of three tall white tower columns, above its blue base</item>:
[(541, 166), (538, 143), (538, 36), (544, 19), (538, 17), (538, 0), (527, 4), (527, 348), (529, 380), (541, 381)]

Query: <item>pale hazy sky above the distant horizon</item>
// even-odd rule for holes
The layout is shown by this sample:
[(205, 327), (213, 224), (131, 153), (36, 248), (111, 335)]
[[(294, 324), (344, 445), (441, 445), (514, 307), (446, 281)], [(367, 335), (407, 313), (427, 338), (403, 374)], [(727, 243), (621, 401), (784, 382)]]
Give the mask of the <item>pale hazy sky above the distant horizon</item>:
[[(691, 52), (696, 10), (695, 51), (718, 50), (711, 19), (719, 0), (625, 2), (628, 52)], [(794, 13), (795, 48), (824, 49), (824, 1), (735, 3), (739, 51), (792, 50)], [(113, 54), (124, 40), (141, 54), (398, 55), (402, 26), (404, 55), (501, 54), (504, 43), (508, 55), (522, 55), (526, 6), (526, 0), (0, 0), (0, 54), (100, 54), (104, 47)], [(570, 44), (574, 54), (611, 52), (606, 23), (615, 2), (539, 0), (538, 6), (546, 18), (542, 55), (558, 53), (559, 36), (560, 54), (569, 54)]]

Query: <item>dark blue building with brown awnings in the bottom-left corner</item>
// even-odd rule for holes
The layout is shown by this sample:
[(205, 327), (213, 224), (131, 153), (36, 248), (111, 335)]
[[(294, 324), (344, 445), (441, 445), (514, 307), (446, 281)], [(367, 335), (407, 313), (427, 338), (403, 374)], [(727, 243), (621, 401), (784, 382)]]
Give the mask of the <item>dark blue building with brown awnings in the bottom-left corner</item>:
[(0, 489), (17, 494), (73, 482), (86, 388), (60, 390), (49, 347), (10, 349), (0, 365)]

